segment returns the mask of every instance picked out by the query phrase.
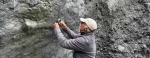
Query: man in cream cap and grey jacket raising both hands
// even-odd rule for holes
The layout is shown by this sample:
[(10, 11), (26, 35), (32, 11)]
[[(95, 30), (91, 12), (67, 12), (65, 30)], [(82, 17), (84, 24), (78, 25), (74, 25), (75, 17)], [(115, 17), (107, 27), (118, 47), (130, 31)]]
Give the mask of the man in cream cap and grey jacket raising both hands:
[[(59, 24), (54, 23), (53, 28), (60, 46), (66, 49), (74, 50), (73, 58), (95, 58), (96, 43), (94, 31), (97, 29), (97, 23), (91, 18), (80, 18), (80, 33), (75, 34), (66, 24), (61, 21)], [(70, 36), (67, 39), (61, 32), (60, 27)]]

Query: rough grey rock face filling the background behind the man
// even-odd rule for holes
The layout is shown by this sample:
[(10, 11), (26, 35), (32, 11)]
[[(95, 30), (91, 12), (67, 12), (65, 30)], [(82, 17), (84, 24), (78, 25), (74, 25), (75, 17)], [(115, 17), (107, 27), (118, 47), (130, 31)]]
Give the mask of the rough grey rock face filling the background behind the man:
[[(52, 24), (79, 33), (79, 18), (98, 23), (96, 58), (149, 58), (150, 0), (1, 0), (0, 58), (71, 58)], [(67, 37), (67, 36), (66, 36)]]

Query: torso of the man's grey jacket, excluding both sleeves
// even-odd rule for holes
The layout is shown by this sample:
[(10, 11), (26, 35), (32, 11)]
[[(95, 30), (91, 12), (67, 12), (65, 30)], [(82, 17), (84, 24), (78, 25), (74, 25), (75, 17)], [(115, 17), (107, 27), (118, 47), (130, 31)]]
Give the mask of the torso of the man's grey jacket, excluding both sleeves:
[(74, 51), (73, 58), (95, 58), (96, 55), (96, 44), (95, 37), (93, 34), (82, 35), (87, 40), (83, 51)]

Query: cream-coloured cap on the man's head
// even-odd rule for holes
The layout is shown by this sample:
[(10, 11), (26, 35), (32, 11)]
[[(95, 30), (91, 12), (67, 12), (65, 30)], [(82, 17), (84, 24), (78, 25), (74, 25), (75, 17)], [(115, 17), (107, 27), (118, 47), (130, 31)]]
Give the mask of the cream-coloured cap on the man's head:
[(86, 25), (92, 30), (94, 31), (95, 29), (97, 29), (97, 23), (94, 19), (92, 18), (80, 18), (81, 22), (86, 23)]

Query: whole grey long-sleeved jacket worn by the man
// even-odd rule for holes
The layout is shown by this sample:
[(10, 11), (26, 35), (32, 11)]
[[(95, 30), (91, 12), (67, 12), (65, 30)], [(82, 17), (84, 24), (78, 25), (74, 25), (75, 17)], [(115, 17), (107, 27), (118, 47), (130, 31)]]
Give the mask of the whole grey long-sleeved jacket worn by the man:
[(66, 49), (74, 50), (73, 58), (95, 58), (96, 43), (93, 33), (79, 35), (75, 34), (68, 27), (65, 29), (65, 31), (71, 37), (71, 39), (67, 39), (59, 28), (54, 29), (60, 46)]

